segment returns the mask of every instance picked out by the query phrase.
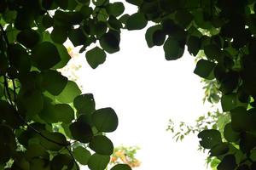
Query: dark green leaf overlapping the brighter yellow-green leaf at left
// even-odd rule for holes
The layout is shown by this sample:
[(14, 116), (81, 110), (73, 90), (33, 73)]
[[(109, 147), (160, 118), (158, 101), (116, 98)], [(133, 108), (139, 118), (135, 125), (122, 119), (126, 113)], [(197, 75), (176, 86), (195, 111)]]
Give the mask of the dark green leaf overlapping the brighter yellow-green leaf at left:
[(67, 77), (63, 77), (58, 71), (43, 71), (42, 86), (52, 95), (61, 94), (67, 85)]

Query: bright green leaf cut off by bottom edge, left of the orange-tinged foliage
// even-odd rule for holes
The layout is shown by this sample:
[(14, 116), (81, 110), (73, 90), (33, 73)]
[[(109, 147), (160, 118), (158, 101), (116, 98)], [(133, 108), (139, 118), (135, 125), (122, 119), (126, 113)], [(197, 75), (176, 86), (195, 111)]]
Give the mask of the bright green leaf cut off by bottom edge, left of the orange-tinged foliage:
[(93, 154), (88, 161), (88, 167), (90, 170), (104, 170), (108, 166), (110, 156), (102, 156), (99, 154)]

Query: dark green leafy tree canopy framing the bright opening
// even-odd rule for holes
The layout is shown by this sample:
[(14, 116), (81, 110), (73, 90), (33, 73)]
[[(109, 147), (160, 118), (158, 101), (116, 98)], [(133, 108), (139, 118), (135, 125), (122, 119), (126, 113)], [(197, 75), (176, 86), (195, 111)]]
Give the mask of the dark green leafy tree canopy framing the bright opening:
[[(125, 14), (126, 3), (137, 6)], [(0, 0), (0, 168), (107, 167), (118, 126), (112, 108), (57, 69), (70, 59), (63, 42), (85, 51), (92, 68), (119, 51), (122, 30), (147, 27), (148, 48), (166, 60), (185, 47), (203, 57), (195, 74), (218, 82), (224, 129), (198, 133), (218, 170), (256, 169), (256, 3), (254, 0)], [(119, 164), (112, 170), (129, 170)]]

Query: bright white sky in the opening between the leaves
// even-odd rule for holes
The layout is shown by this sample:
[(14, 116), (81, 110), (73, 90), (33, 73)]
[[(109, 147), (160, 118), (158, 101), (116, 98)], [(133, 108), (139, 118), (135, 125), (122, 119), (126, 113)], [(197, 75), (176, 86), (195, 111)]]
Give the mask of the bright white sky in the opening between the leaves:
[[(145, 30), (144, 30), (145, 31)], [(207, 113), (203, 105), (201, 78), (196, 76), (195, 57), (166, 61), (162, 47), (148, 48), (144, 31), (123, 31), (120, 51), (108, 54), (95, 70), (84, 54), (73, 59), (82, 65), (75, 72), (83, 93), (91, 93), (96, 109), (112, 107), (119, 116), (119, 127), (108, 137), (118, 146), (137, 145), (138, 170), (206, 170), (206, 157), (198, 151), (199, 139), (189, 135), (175, 142), (166, 132), (168, 120), (195, 123)]]

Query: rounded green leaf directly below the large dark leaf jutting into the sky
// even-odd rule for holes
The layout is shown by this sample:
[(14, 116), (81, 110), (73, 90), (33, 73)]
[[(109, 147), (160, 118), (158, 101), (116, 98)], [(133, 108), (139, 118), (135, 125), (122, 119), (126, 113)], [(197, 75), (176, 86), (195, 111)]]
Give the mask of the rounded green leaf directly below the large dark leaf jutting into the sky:
[(103, 156), (110, 156), (113, 154), (113, 143), (108, 137), (103, 135), (98, 135), (90, 140), (89, 147), (94, 150), (97, 154)]

